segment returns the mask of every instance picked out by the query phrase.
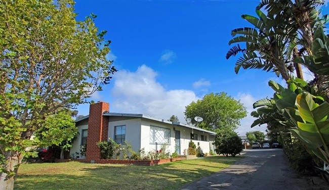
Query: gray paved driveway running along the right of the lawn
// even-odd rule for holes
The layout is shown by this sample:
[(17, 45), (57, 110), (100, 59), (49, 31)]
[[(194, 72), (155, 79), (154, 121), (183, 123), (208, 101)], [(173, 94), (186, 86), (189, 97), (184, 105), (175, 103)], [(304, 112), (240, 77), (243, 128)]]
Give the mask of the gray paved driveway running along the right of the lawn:
[(301, 178), (289, 168), (282, 149), (245, 150), (244, 159), (182, 189), (321, 189), (311, 179)]

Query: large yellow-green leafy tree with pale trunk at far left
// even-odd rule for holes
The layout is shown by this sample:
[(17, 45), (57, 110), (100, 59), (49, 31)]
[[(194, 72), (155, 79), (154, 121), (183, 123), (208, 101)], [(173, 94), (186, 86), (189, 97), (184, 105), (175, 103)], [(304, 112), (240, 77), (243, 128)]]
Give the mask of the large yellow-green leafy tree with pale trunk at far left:
[(1, 189), (13, 189), (23, 157), (36, 154), (27, 148), (46, 144), (48, 138), (31, 138), (45, 119), (86, 103), (116, 71), (106, 58), (106, 31), (98, 31), (93, 14), (76, 21), (73, 6), (72, 0), (0, 2)]

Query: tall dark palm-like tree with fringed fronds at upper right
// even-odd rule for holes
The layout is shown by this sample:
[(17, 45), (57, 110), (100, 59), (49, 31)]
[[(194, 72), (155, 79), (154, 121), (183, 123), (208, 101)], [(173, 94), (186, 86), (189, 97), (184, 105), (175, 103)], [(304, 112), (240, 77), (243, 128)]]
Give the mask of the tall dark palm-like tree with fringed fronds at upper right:
[[(226, 55), (228, 59), (243, 53), (235, 64), (235, 72), (238, 73), (241, 67), (272, 70), (287, 81), (295, 68), (297, 76), (302, 79), (301, 65), (295, 58), (312, 55), (315, 29), (327, 22), (326, 17), (318, 18), (320, 12), (316, 9), (323, 3), (320, 0), (263, 0), (256, 8), (258, 18), (242, 15), (253, 28), (237, 28), (231, 32), (234, 38), (229, 44), (245, 42), (244, 49), (237, 44)], [(262, 8), (265, 8), (266, 15)]]

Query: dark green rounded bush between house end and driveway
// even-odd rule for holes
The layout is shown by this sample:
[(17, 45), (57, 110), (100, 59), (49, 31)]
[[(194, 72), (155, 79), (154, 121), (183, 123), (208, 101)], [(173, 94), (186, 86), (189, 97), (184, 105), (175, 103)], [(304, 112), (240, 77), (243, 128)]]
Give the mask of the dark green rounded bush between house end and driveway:
[(235, 155), (242, 151), (242, 140), (232, 131), (221, 131), (215, 135), (215, 151), (217, 154)]

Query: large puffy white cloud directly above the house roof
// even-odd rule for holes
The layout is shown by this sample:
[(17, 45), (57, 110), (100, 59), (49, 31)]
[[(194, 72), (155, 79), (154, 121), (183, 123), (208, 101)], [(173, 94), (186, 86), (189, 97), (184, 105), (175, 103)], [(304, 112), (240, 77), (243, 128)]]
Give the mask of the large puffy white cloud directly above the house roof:
[(176, 115), (185, 123), (185, 106), (199, 98), (190, 90), (166, 90), (156, 81), (157, 73), (142, 65), (137, 71), (121, 70), (115, 73), (110, 111), (142, 113), (168, 120)]

